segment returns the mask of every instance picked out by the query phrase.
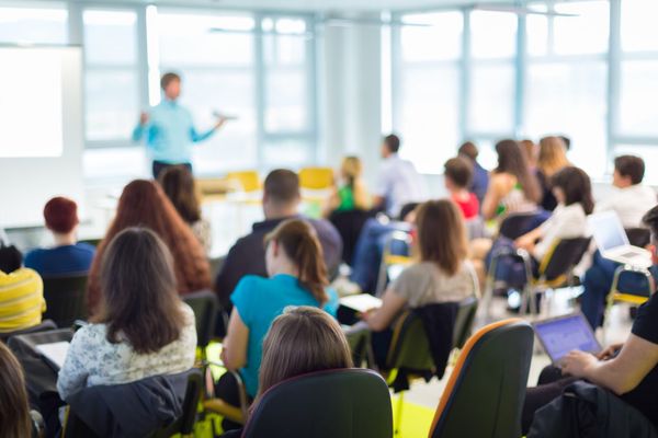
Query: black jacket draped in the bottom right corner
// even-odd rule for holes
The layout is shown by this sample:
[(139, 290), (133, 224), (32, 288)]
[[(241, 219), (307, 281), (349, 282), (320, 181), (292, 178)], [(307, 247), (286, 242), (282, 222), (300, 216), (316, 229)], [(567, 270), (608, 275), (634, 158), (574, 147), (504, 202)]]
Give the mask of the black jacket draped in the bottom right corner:
[(658, 438), (649, 420), (610, 391), (578, 380), (535, 413), (527, 438)]

